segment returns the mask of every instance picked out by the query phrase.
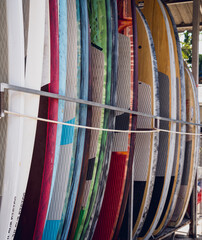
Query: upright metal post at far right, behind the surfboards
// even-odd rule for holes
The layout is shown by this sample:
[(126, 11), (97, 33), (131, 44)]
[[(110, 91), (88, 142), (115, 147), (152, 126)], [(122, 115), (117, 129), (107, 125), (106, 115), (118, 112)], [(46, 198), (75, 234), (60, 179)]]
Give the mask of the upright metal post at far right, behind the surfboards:
[[(193, 31), (192, 31), (192, 73), (196, 86), (199, 81), (199, 22), (200, 22), (200, 0), (193, 1)], [(196, 93), (198, 96), (198, 92)], [(191, 195), (191, 224), (189, 235), (197, 237), (197, 174), (193, 192)]]

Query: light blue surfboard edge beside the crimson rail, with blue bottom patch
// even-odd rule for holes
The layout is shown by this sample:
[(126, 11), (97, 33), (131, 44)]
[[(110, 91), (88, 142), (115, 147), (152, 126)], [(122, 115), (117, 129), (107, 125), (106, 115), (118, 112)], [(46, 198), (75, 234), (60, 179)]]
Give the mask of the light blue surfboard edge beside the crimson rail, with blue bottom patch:
[[(59, 94), (65, 95), (66, 90), (66, 76), (67, 76), (67, 3), (66, 1), (59, 1)], [(65, 101), (58, 101), (58, 121), (63, 122), (64, 118), (64, 110), (65, 110)], [(56, 148), (55, 148), (55, 156), (54, 156), (54, 166), (53, 166), (53, 175), (52, 175), (52, 183), (49, 197), (49, 205), (48, 211), (46, 215), (46, 223), (43, 231), (43, 239), (51, 239), (56, 238), (57, 236), (57, 226), (58, 221), (50, 221), (48, 216), (51, 215), (51, 203), (54, 202), (54, 209), (59, 208), (58, 203), (60, 203), (60, 199), (58, 201), (54, 201), (55, 192), (54, 185), (57, 179), (57, 170), (59, 168), (59, 160), (60, 160), (60, 143), (62, 137), (62, 125), (57, 125), (57, 134), (56, 134)], [(56, 210), (55, 210), (56, 211)], [(52, 220), (52, 219), (51, 219)], [(50, 222), (52, 224), (50, 224)], [(51, 225), (51, 228), (50, 228)], [(47, 233), (48, 231), (48, 233)], [(45, 236), (45, 237), (44, 237)]]

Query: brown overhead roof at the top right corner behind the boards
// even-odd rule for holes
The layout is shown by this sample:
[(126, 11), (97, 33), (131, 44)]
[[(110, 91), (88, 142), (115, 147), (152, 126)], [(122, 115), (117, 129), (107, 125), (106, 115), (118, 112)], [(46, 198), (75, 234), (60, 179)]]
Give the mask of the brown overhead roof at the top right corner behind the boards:
[[(202, 30), (202, 1), (200, 1), (200, 30)], [(175, 19), (178, 31), (192, 30), (193, 0), (165, 0)]]

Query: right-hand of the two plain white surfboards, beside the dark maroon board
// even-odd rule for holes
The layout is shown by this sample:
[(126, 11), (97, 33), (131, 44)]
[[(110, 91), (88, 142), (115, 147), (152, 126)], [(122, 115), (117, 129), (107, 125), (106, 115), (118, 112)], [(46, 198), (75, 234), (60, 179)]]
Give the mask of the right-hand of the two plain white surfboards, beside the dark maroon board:
[[(40, 90), (43, 69), (44, 29), (45, 29), (45, 2), (46, 0), (31, 0), (29, 5), (29, 25), (27, 41), (27, 61), (25, 69), (25, 87)], [(24, 94), (24, 111), (22, 113), (37, 117), (39, 96)], [(31, 166), (36, 120), (24, 118), (21, 147), (21, 161), (17, 178), (15, 208), (9, 239), (13, 239), (24, 201), (29, 170)]]

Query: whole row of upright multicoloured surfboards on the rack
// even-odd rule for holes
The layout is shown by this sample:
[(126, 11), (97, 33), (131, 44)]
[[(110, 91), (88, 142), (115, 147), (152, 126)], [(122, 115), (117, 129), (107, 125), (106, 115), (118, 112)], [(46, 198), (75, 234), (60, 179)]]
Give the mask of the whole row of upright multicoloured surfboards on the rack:
[(0, 239), (150, 239), (179, 226), (200, 130), (158, 117), (200, 123), (200, 112), (167, 6), (2, 0), (0, 13), (2, 82), (155, 116), (8, 91)]

